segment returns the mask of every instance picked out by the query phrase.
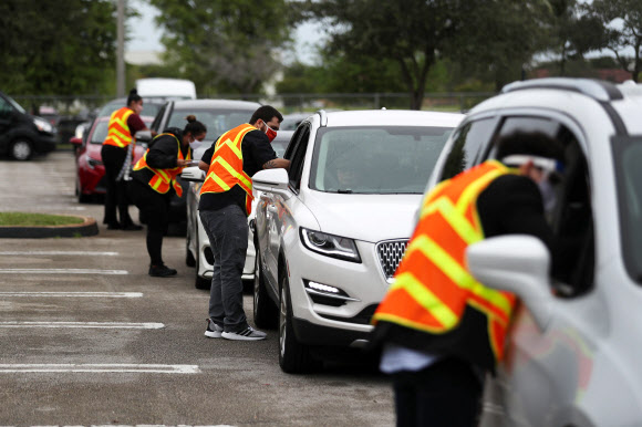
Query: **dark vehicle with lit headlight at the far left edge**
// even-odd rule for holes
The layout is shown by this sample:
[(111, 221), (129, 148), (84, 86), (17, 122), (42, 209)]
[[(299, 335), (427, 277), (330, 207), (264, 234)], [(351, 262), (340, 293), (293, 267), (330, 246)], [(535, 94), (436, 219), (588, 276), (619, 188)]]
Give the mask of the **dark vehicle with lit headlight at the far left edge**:
[(34, 154), (55, 149), (54, 127), (0, 92), (0, 155), (29, 160)]

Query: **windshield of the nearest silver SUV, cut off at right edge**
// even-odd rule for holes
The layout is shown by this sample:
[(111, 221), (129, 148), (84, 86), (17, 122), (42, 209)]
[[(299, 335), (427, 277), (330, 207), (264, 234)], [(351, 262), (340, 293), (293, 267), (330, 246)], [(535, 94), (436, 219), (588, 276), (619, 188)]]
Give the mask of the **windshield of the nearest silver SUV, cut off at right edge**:
[(623, 254), (633, 280), (642, 283), (642, 138), (615, 150)]

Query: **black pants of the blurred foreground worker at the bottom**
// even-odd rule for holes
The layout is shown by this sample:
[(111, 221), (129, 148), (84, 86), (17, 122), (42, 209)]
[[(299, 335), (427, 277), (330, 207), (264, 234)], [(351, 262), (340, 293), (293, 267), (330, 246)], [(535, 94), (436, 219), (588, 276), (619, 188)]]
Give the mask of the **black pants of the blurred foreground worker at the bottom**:
[(477, 425), (483, 385), (465, 362), (445, 358), (420, 372), (401, 372), (393, 384), (400, 427)]

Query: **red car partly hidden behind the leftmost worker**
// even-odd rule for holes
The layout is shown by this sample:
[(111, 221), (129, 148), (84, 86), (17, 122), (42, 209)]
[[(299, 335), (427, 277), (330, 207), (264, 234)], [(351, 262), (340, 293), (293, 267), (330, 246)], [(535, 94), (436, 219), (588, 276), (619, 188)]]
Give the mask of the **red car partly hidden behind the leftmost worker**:
[[(154, 117), (141, 116), (143, 122), (149, 126)], [(105, 177), (105, 166), (101, 150), (103, 142), (107, 137), (110, 117), (97, 117), (85, 133), (83, 138), (71, 138), (70, 143), (75, 147), (75, 195), (79, 202), (89, 202), (96, 197), (105, 195), (107, 183)], [(145, 144), (135, 144), (134, 162), (137, 162), (145, 154)]]

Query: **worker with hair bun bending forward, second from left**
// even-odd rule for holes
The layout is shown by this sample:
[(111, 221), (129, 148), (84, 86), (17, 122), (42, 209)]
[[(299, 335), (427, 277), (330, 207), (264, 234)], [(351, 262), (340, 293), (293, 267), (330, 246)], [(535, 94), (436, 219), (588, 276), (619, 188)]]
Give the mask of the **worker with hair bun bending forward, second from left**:
[(205, 125), (195, 116), (186, 117), (184, 129), (170, 127), (157, 135), (145, 155), (136, 163), (127, 184), (127, 195), (147, 219), (147, 253), (149, 275), (165, 278), (176, 270), (163, 262), (163, 236), (169, 225), (169, 201), (174, 191), (183, 197), (176, 181), (191, 159), (191, 150), (200, 146), (207, 134)]

